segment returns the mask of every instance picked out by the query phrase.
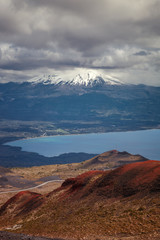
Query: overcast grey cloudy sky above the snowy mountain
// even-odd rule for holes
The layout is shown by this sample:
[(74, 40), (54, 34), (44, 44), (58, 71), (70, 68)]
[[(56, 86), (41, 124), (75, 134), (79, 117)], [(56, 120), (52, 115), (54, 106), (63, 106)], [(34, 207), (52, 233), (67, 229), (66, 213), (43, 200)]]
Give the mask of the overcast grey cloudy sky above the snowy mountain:
[(160, 86), (160, 1), (0, 0), (0, 82), (88, 70)]

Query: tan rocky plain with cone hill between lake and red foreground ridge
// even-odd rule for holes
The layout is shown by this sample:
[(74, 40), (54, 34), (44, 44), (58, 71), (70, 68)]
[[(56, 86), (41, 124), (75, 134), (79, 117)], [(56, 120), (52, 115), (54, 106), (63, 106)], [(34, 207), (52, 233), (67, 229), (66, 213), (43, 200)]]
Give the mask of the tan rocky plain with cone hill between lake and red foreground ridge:
[[(72, 155), (76, 156), (76, 154), (68, 154), (67, 156), (72, 157)], [(27, 156), (29, 155), (27, 154)], [(65, 154), (63, 156), (65, 157)], [(88, 154), (88, 156), (90, 155)], [(147, 159), (140, 155), (112, 150), (81, 163), (43, 165), (27, 168), (16, 167), (10, 169), (0, 167), (0, 206), (20, 190), (32, 190), (33, 188), (37, 193), (45, 194), (53, 188), (60, 186), (60, 179), (65, 180), (76, 177), (87, 170), (111, 169), (129, 162), (145, 160)], [(43, 183), (46, 184), (42, 185)]]

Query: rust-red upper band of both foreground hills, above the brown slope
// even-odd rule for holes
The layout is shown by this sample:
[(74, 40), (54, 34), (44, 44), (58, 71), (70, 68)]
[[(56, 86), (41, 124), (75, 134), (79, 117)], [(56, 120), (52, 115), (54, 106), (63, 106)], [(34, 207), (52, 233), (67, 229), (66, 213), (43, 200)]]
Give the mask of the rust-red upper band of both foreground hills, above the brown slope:
[(160, 192), (160, 161), (149, 160), (109, 171), (88, 171), (76, 178), (67, 179), (60, 188), (46, 196), (29, 191), (19, 192), (1, 207), (0, 215), (9, 213), (13, 216), (23, 216), (50, 198), (60, 204), (61, 200), (99, 201), (136, 196), (139, 193), (146, 196), (158, 192)]

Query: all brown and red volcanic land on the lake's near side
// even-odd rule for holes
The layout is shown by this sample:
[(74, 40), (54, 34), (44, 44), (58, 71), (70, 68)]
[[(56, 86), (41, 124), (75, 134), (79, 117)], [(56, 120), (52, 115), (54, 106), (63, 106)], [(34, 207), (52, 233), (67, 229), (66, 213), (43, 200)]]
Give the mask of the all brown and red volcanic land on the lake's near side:
[[(0, 195), (0, 234), (4, 240), (158, 240), (159, 170), (159, 161), (116, 150), (80, 163), (1, 168), (1, 192), (17, 194)], [(23, 188), (51, 177), (62, 182)]]

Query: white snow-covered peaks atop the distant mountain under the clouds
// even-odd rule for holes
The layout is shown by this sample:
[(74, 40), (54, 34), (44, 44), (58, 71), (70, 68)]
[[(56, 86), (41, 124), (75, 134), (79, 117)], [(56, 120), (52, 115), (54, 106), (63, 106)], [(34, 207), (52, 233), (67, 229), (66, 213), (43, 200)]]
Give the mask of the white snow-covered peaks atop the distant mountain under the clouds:
[(102, 76), (101, 74), (96, 74), (95, 72), (85, 72), (82, 74), (77, 74), (72, 80), (64, 80), (62, 77), (53, 75), (43, 75), (40, 77), (35, 77), (30, 79), (28, 82), (32, 84), (55, 84), (55, 85), (71, 85), (71, 86), (96, 86), (96, 85), (122, 85), (124, 84), (117, 78), (111, 76)]

